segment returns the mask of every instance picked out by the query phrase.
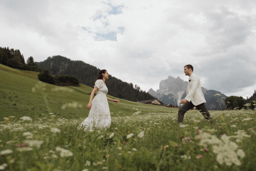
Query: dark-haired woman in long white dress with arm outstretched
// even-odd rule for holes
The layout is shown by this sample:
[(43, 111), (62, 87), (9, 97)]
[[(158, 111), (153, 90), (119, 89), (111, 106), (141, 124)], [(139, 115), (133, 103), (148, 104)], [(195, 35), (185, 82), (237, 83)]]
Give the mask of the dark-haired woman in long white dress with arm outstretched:
[[(89, 116), (78, 126), (78, 129), (84, 128), (84, 131), (93, 127), (97, 129), (106, 129), (110, 127), (111, 117), (108, 100), (119, 102), (117, 99), (111, 99), (106, 97), (108, 88), (106, 87), (105, 80), (109, 79), (109, 73), (106, 70), (100, 70), (95, 82), (94, 89), (90, 96), (90, 101), (87, 105), (87, 109), (90, 110)], [(97, 95), (93, 99), (94, 93), (97, 91)]]

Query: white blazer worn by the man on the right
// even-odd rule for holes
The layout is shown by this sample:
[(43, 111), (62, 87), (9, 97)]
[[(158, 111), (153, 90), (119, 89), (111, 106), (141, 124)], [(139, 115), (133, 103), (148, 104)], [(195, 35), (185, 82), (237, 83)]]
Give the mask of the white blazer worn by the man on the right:
[(192, 73), (188, 79), (187, 96), (185, 99), (191, 101), (194, 105), (205, 103), (199, 77)]

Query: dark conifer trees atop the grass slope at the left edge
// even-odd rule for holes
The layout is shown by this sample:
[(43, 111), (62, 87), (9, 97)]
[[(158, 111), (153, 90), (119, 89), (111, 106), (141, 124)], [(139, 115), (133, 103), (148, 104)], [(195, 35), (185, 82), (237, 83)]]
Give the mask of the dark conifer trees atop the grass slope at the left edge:
[(42, 72), (42, 68), (38, 67), (32, 56), (30, 56), (27, 59), (27, 63), (25, 63), (23, 54), (20, 53), (18, 49), (9, 49), (9, 47), (0, 47), (0, 63), (19, 70)]

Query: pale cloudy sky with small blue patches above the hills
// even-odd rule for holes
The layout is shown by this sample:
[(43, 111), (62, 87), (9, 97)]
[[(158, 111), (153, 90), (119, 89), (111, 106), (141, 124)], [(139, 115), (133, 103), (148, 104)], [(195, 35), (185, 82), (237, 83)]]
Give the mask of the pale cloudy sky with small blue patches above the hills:
[(256, 1), (0, 1), (0, 47), (82, 60), (142, 90), (169, 75), (225, 95), (256, 89)]

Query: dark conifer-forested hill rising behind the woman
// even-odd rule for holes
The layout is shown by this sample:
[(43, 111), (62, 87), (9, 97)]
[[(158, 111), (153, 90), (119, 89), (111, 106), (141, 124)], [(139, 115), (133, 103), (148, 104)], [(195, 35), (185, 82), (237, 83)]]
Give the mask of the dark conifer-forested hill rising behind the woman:
[[(38, 66), (44, 70), (49, 70), (52, 75), (72, 75), (79, 79), (80, 83), (89, 87), (94, 87), (94, 82), (100, 69), (84, 63), (80, 60), (71, 60), (63, 56), (48, 57), (42, 62), (37, 62)], [(139, 86), (133, 83), (123, 82), (122, 80), (109, 76), (106, 80), (109, 95), (130, 101), (143, 101), (156, 99), (149, 93), (142, 91)], [(162, 102), (160, 102), (162, 103)]]

